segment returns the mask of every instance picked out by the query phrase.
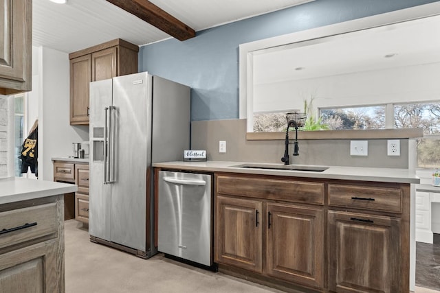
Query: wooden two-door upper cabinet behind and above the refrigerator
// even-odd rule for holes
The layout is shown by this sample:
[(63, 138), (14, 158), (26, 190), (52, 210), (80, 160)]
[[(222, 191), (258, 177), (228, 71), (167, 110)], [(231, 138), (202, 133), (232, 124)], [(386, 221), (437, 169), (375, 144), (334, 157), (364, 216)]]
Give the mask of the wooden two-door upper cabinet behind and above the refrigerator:
[(138, 51), (118, 38), (69, 54), (71, 125), (89, 124), (89, 83), (137, 73)]

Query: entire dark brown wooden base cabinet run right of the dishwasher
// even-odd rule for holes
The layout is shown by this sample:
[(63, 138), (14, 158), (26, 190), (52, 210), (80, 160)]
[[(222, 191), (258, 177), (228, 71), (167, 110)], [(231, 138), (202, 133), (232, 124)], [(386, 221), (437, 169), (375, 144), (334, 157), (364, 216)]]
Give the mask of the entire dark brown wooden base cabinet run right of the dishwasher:
[(409, 292), (410, 184), (215, 178), (222, 272), (288, 292)]

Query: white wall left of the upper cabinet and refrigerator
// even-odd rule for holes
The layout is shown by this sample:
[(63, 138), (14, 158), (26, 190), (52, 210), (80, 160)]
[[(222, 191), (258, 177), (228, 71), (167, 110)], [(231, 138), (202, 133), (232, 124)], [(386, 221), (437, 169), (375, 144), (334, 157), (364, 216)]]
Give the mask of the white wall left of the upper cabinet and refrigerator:
[(33, 52), (39, 60), (39, 179), (53, 180), (52, 158), (72, 156), (72, 143), (88, 141), (89, 128), (69, 124), (69, 55), (45, 47)]

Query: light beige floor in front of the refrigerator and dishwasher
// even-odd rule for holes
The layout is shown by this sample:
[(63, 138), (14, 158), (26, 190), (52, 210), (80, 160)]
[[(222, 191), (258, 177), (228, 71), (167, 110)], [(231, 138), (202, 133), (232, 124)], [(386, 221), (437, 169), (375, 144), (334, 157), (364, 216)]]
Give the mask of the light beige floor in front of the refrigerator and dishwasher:
[[(65, 282), (66, 293), (280, 293), (160, 254), (146, 261), (91, 243), (87, 230), (76, 220), (65, 221)], [(417, 287), (415, 293), (440, 291)]]

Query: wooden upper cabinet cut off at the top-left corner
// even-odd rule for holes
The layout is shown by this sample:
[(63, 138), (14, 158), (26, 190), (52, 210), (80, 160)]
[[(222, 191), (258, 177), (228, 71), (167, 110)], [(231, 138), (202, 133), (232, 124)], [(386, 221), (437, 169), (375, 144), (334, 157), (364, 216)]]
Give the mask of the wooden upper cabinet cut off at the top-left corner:
[(0, 1), (0, 94), (32, 89), (32, 0)]

